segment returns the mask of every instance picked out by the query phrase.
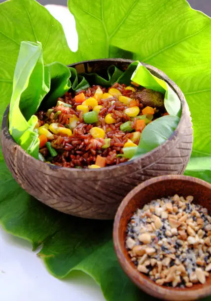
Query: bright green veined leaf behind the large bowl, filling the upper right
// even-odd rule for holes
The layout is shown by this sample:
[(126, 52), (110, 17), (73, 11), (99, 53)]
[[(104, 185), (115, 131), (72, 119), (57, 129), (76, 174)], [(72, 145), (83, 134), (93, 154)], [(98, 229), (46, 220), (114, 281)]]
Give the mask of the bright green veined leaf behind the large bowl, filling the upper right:
[(69, 0), (69, 8), (83, 59), (140, 60), (176, 82), (193, 118), (193, 155), (210, 155), (211, 18), (185, 0)]

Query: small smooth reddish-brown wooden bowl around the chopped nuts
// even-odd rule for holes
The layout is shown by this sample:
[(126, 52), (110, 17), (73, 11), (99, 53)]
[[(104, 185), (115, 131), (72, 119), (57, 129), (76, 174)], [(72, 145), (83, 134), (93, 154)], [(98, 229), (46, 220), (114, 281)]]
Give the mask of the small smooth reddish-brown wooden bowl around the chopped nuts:
[(193, 203), (200, 204), (211, 212), (211, 184), (187, 176), (169, 175), (147, 180), (134, 188), (122, 201), (114, 219), (113, 241), (122, 269), (141, 290), (162, 300), (196, 300), (211, 295), (211, 274), (205, 284), (194, 284), (191, 288), (159, 286), (148, 276), (140, 273), (125, 247), (126, 230), (136, 209), (162, 197), (193, 195)]

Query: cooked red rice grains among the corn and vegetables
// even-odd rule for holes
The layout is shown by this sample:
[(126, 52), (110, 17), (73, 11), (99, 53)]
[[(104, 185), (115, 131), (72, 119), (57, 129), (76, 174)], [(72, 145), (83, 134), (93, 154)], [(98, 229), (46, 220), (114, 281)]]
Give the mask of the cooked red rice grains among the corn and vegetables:
[[(92, 86), (87, 90), (82, 90), (77, 92), (77, 94), (84, 93), (86, 98), (94, 96), (95, 91), (100, 86)], [(125, 85), (119, 85), (115, 83), (111, 88), (118, 89), (125, 96), (130, 97), (132, 95), (132, 90), (125, 90)], [(109, 92), (109, 89), (100, 87), (103, 92)], [(135, 88), (137, 89), (137, 88)], [(127, 161), (128, 159), (124, 157), (117, 157), (117, 154), (123, 153), (122, 148), (129, 138), (133, 134), (125, 133), (120, 130), (120, 125), (128, 120), (131, 120), (129, 116), (124, 114), (124, 110), (127, 107), (125, 104), (119, 102), (117, 97), (109, 99), (100, 99), (98, 101), (99, 105), (103, 108), (99, 112), (99, 123), (98, 126), (103, 128), (106, 132), (106, 138), (111, 138), (110, 147), (107, 149), (102, 149), (104, 145), (104, 139), (94, 139), (89, 133), (90, 129), (95, 126), (93, 124), (86, 124), (83, 122), (83, 112), (76, 111), (76, 106), (74, 96), (71, 92), (66, 92), (63, 97), (58, 98), (63, 102), (71, 104), (71, 108), (66, 108), (62, 105), (53, 107), (53, 113), (50, 117), (47, 116), (47, 112), (39, 111), (37, 113), (39, 126), (44, 123), (59, 122), (61, 126), (69, 124), (69, 119), (72, 115), (76, 115), (79, 118), (77, 126), (72, 131), (72, 136), (64, 135), (54, 135), (54, 139), (51, 141), (51, 145), (58, 151), (58, 155), (53, 158), (52, 163), (63, 167), (81, 167), (86, 168), (88, 165), (95, 164), (97, 155), (106, 157), (106, 165), (115, 165)], [(111, 101), (115, 102), (111, 104)], [(137, 106), (140, 109), (143, 107), (142, 104), (137, 100)], [(57, 111), (62, 111), (62, 113), (55, 120), (54, 115)], [(106, 124), (105, 117), (108, 113), (116, 120), (114, 124)], [(136, 122), (136, 121), (135, 121)], [(135, 127), (135, 122), (132, 121), (132, 126)], [(137, 144), (139, 141), (136, 142)], [(39, 150), (45, 158), (49, 155), (46, 147)]]

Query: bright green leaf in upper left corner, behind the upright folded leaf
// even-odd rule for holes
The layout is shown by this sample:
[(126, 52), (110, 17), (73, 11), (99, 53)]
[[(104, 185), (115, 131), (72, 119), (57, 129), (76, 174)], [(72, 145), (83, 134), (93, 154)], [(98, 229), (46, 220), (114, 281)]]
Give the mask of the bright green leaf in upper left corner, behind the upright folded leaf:
[(41, 42), (44, 64), (77, 61), (61, 24), (35, 0), (0, 4), (0, 116), (9, 104), (16, 61), (22, 41)]

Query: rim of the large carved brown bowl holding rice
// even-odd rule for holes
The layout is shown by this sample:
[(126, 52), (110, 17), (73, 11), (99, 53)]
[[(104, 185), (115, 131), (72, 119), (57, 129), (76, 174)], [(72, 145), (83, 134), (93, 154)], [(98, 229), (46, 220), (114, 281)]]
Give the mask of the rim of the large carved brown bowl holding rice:
[[(68, 66), (70, 67), (73, 67), (75, 65), (78, 65), (78, 64), (81, 64), (81, 63), (89, 63), (89, 62), (101, 62), (101, 61), (113, 61), (113, 62), (120, 62), (120, 63), (132, 63), (134, 62), (135, 60), (128, 60), (128, 59), (96, 59), (96, 60), (84, 60), (84, 61), (80, 61), (80, 62), (76, 62), (76, 63), (72, 63), (72, 64), (69, 64)], [(139, 156), (135, 159), (132, 159), (132, 160), (129, 160), (127, 162), (123, 162), (123, 163), (120, 163), (118, 165), (112, 165), (112, 166), (107, 166), (107, 167), (104, 167), (104, 168), (100, 168), (100, 169), (75, 169), (75, 168), (67, 168), (67, 167), (60, 167), (60, 166), (56, 166), (56, 165), (52, 165), (52, 164), (46, 164), (45, 162), (42, 162), (40, 160), (37, 160), (35, 159), (33, 156), (31, 156), (30, 154), (28, 154), (26, 151), (24, 151), (15, 141), (14, 139), (12, 138), (12, 136), (10, 135), (9, 133), (9, 128), (8, 128), (8, 114), (9, 114), (9, 105), (8, 107), (6, 108), (4, 114), (3, 114), (3, 120), (2, 120), (2, 126), (1, 126), (1, 130), (4, 131), (4, 134), (9, 137), (9, 139), (11, 140), (11, 143), (12, 145), (16, 148), (16, 150), (18, 149), (18, 151), (20, 151), (24, 156), (26, 156), (26, 158), (32, 160), (32, 165), (31, 165), (31, 168), (34, 169), (34, 170), (37, 170), (37, 164), (41, 164), (41, 166), (43, 166), (43, 164), (45, 164), (46, 166), (46, 169), (47, 167), (49, 168), (49, 170), (64, 170), (68, 173), (70, 172), (73, 172), (76, 177), (79, 177), (80, 173), (89, 173), (89, 177), (91, 176), (97, 176), (99, 175), (102, 171), (104, 172), (111, 172), (112, 170), (118, 168), (119, 170), (120, 169), (124, 169), (124, 167), (126, 165), (130, 165), (130, 164), (136, 164), (138, 162), (138, 160), (143, 159), (145, 156), (151, 156), (153, 155), (154, 152), (157, 152), (157, 151), (160, 151), (162, 149), (163, 146), (165, 146), (169, 141), (172, 140), (172, 138), (176, 135), (177, 131), (182, 128), (182, 122), (183, 120), (185, 119), (185, 114), (187, 112), (187, 109), (188, 109), (188, 105), (187, 105), (187, 102), (186, 102), (186, 99), (184, 97), (184, 94), (182, 93), (182, 91), (179, 89), (179, 87), (176, 85), (175, 82), (173, 82), (162, 70), (154, 67), (154, 66), (151, 66), (149, 64), (145, 64), (145, 63), (142, 63), (150, 72), (151, 71), (154, 71), (156, 73), (159, 73), (159, 75), (162, 77), (162, 79), (164, 81), (166, 81), (168, 83), (168, 85), (176, 92), (177, 96), (179, 97), (179, 100), (181, 101), (181, 117), (180, 117), (180, 120), (179, 120), (179, 123), (176, 127), (176, 130), (173, 132), (173, 134), (171, 135), (171, 137), (165, 142), (163, 143), (162, 145), (158, 146), (157, 148), (153, 149), (152, 151), (148, 151), (147, 153), (143, 154), (142, 156)], [(3, 135), (1, 135), (1, 137), (3, 137)], [(2, 140), (1, 139), (1, 143), (2, 143)], [(34, 164), (36, 162), (36, 168), (34, 167)], [(38, 167), (39, 169), (39, 167)], [(60, 178), (60, 177), (58, 177)]]

